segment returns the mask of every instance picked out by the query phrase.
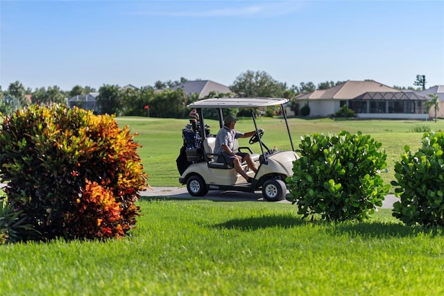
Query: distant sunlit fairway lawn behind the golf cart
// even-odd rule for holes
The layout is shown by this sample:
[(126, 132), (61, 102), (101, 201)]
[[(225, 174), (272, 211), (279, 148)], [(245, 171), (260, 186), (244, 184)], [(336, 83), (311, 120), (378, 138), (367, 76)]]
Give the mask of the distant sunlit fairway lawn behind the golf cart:
[[(139, 133), (135, 139), (143, 147), (139, 149), (148, 182), (151, 186), (180, 186), (179, 172), (176, 166), (180, 147), (182, 146), (182, 128), (189, 123), (188, 119), (155, 119), (146, 117), (118, 117), (120, 125), (128, 125), (133, 132)], [(206, 121), (211, 126), (211, 132), (216, 134), (219, 123), (214, 120)], [(257, 121), (259, 128), (264, 128), (264, 143), (269, 148), (291, 149), (283, 119), (266, 118)], [(394, 165), (400, 159), (404, 146), (412, 149), (420, 147), (422, 132), (411, 132), (416, 125), (427, 125), (432, 130), (444, 130), (444, 121), (404, 121), (404, 120), (341, 120), (332, 119), (289, 119), (291, 137), (297, 149), (300, 137), (314, 132), (324, 133), (348, 130), (355, 133), (361, 131), (370, 134), (382, 142), (382, 148), (387, 153), (388, 173), (383, 173), (384, 182), (389, 184), (394, 178)], [(253, 121), (241, 119), (237, 123), (238, 130), (248, 132), (253, 130)], [(248, 146), (248, 139), (239, 139), (241, 146)], [(260, 153), (259, 144), (251, 146)]]

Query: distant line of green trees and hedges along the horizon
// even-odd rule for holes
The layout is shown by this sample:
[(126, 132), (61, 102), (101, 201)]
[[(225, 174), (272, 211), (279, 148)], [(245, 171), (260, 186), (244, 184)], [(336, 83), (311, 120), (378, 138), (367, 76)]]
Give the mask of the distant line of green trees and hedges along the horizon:
[[(414, 85), (425, 89), (425, 76), (416, 76)], [(185, 94), (177, 87), (187, 82), (186, 78), (180, 80), (157, 80), (154, 85), (140, 88), (120, 87), (119, 85), (102, 85), (98, 90), (94, 87), (75, 85), (69, 91), (63, 91), (57, 85), (53, 87), (40, 87), (32, 90), (26, 88), (18, 80), (12, 82), (8, 89), (0, 87), (0, 113), (10, 114), (26, 105), (40, 104), (53, 105), (54, 103), (67, 104), (67, 100), (74, 96), (87, 95), (91, 92), (99, 92), (96, 104), (101, 114), (116, 114), (117, 116), (149, 116), (183, 118), (188, 114), (187, 105), (198, 101), (198, 94)], [(229, 86), (230, 93), (222, 94), (212, 92), (205, 98), (221, 96), (238, 97), (273, 97), (289, 98), (291, 109), (298, 114), (300, 106), (293, 100), (301, 93), (314, 92), (316, 89), (328, 89), (345, 81), (325, 81), (314, 85), (313, 82), (300, 82), (299, 85), (288, 86), (286, 82), (279, 82), (265, 71), (246, 71), (235, 78)], [(397, 87), (398, 89), (414, 89), (413, 87)], [(147, 110), (148, 108), (148, 110)]]

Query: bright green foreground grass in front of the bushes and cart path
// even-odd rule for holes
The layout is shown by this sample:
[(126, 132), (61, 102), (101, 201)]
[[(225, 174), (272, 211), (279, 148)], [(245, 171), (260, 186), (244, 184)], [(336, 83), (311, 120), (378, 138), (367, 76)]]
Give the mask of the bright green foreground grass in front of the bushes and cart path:
[(382, 209), (363, 223), (296, 206), (139, 201), (132, 237), (0, 247), (0, 295), (442, 295), (444, 238)]

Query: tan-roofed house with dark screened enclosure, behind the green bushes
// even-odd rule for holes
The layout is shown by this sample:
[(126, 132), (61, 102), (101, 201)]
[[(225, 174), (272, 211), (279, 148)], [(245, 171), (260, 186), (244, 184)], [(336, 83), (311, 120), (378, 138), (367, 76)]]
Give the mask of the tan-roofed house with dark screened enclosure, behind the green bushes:
[(366, 119), (428, 119), (427, 97), (412, 91), (402, 91), (382, 83), (348, 80), (330, 87), (296, 96), (300, 107), (308, 104), (309, 116), (327, 117), (343, 105)]

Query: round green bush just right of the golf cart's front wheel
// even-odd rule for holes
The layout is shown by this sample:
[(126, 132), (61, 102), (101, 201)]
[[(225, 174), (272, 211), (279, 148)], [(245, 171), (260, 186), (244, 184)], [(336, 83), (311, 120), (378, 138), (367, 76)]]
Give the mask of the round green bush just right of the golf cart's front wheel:
[(382, 206), (389, 184), (379, 172), (386, 153), (369, 135), (311, 134), (302, 137), (300, 159), (287, 178), (288, 200), (304, 218), (320, 214), (326, 220), (362, 220)]

